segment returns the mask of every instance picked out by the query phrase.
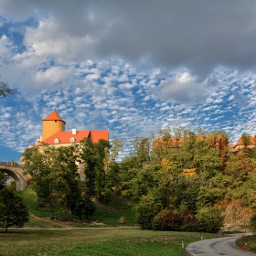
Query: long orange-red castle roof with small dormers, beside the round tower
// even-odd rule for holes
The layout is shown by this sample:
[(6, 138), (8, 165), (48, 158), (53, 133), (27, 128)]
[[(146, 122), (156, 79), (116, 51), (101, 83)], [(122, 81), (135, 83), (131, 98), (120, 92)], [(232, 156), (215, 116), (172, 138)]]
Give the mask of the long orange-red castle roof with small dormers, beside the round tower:
[[(74, 141), (70, 139), (73, 138)], [(98, 143), (100, 139), (109, 140), (109, 131), (107, 130), (82, 130), (76, 131), (76, 134), (69, 132), (59, 132), (49, 136), (43, 141), (45, 144), (69, 144), (79, 143), (84, 138), (90, 138), (92, 143)], [(59, 143), (54, 143), (55, 139), (59, 140)]]

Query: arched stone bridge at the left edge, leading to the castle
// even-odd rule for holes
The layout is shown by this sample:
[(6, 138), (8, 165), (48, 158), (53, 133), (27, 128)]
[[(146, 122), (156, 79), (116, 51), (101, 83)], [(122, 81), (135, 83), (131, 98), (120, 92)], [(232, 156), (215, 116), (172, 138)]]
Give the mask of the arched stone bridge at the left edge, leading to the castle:
[(24, 190), (30, 176), (23, 175), (22, 166), (16, 163), (0, 162), (0, 172), (12, 176), (16, 181), (16, 190)]

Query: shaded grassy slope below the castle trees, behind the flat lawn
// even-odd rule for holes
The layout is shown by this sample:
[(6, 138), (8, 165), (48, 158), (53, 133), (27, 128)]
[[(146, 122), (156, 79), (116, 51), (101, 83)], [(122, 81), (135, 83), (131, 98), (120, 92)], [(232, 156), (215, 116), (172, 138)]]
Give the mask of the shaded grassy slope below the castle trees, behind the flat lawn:
[(58, 220), (50, 220), (51, 212), (49, 208), (39, 208), (37, 205), (37, 195), (31, 188), (23, 191), (16, 191), (23, 198), (31, 213), (30, 221), (25, 227), (58, 227), (66, 225), (67, 227), (138, 227), (135, 221), (135, 214), (129, 205), (129, 201), (123, 198), (115, 198), (108, 205), (101, 205), (96, 202), (96, 212), (90, 221), (80, 221), (75, 216), (64, 216), (61, 212), (56, 212)]

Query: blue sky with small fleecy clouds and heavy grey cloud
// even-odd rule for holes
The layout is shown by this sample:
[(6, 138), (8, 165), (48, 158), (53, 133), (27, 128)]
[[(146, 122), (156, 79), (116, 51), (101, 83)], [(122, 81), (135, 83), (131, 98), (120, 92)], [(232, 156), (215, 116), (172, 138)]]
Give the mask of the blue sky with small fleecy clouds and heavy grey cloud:
[(256, 1), (1, 0), (0, 161), (55, 109), (66, 130), (256, 127)]

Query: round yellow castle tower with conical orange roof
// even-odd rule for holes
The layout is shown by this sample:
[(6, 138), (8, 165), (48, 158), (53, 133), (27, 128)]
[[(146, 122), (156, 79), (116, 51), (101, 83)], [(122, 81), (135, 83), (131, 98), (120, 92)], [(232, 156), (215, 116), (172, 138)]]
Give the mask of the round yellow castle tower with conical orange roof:
[(65, 132), (65, 124), (57, 111), (50, 113), (42, 120), (42, 141), (55, 133)]

